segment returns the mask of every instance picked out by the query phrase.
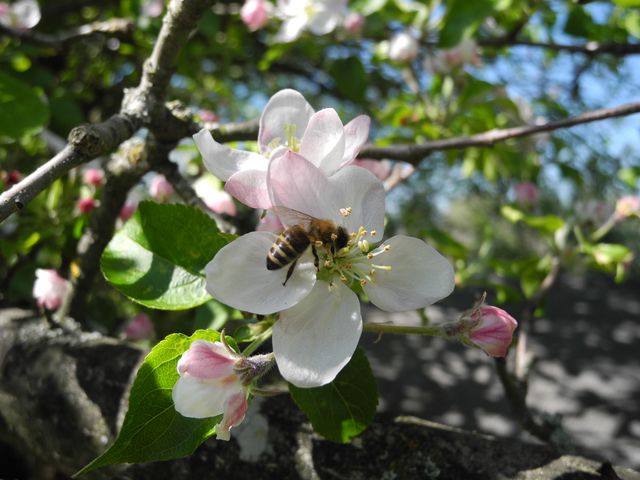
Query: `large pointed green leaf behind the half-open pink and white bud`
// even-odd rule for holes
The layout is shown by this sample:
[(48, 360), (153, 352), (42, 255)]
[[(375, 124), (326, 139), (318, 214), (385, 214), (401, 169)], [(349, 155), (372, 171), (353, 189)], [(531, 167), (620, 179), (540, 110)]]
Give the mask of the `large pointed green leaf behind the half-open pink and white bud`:
[(176, 412), (171, 393), (178, 380), (178, 360), (191, 342), (197, 339), (215, 342), (219, 338), (220, 334), (212, 330), (198, 330), (191, 337), (174, 333), (153, 347), (133, 382), (129, 409), (115, 442), (74, 476), (115, 463), (151, 462), (191, 455), (212, 436), (222, 416), (183, 417)]

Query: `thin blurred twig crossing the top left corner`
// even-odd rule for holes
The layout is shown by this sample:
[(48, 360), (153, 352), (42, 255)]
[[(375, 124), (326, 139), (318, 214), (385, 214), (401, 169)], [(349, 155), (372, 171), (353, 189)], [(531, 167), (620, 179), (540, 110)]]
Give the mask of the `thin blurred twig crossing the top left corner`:
[(35, 30), (21, 30), (0, 24), (0, 34), (18, 38), (24, 42), (45, 45), (56, 50), (64, 48), (67, 44), (97, 33), (111, 35), (128, 34), (133, 31), (133, 22), (124, 18), (112, 18), (105, 22), (93, 22), (80, 27), (65, 30), (54, 34), (37, 32)]

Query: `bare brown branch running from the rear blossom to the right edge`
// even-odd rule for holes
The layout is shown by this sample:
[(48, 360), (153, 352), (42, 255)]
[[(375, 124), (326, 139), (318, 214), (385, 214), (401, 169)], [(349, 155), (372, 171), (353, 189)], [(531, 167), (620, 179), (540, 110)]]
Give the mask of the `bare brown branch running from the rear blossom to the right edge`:
[(420, 144), (389, 145), (386, 147), (365, 145), (358, 156), (360, 158), (390, 158), (417, 164), (429, 154), (441, 150), (454, 150), (468, 147), (492, 147), (497, 142), (502, 142), (510, 138), (526, 137), (607, 118), (623, 117), (639, 112), (640, 102), (627, 103), (619, 107), (593, 110), (592, 112), (582, 113), (575, 117), (556, 120), (542, 125), (523, 125), (520, 127), (494, 129), (468, 137), (434, 140)]

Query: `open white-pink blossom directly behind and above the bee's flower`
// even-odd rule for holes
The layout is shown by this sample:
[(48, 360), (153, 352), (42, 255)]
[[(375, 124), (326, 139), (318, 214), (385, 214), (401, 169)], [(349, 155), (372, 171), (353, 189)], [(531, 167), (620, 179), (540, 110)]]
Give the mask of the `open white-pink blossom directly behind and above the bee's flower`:
[(314, 113), (299, 92), (286, 89), (273, 95), (262, 112), (259, 153), (219, 144), (206, 129), (193, 138), (207, 169), (227, 182), (227, 192), (249, 207), (266, 209), (272, 206), (266, 180), (270, 161), (293, 151), (332, 175), (353, 162), (369, 124), (369, 117), (360, 115), (343, 125), (332, 108)]

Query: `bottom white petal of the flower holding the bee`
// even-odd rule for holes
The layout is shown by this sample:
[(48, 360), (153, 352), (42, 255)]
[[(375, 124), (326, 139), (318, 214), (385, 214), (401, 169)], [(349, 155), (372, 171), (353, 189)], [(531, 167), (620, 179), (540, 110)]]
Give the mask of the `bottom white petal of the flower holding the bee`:
[(326, 385), (349, 362), (362, 332), (360, 302), (341, 282), (319, 281), (273, 326), (273, 353), (285, 380), (298, 387)]

